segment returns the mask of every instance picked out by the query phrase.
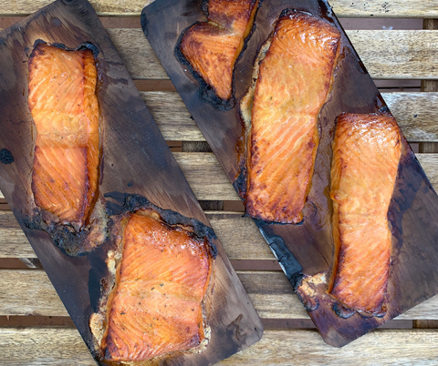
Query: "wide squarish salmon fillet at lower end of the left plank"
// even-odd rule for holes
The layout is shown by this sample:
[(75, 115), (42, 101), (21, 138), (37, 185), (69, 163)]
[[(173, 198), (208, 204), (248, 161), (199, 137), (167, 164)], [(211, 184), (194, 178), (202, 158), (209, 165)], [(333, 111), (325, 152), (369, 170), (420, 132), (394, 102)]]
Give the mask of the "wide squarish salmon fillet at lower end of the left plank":
[(212, 269), (205, 244), (151, 216), (130, 217), (109, 312), (107, 359), (145, 361), (201, 344)]

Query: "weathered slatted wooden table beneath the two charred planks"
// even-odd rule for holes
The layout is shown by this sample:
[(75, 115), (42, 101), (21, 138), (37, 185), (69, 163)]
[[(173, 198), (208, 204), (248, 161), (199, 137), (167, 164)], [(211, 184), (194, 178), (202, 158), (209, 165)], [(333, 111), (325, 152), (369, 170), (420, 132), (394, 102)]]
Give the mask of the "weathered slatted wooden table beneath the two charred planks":
[[(170, 146), (180, 147), (174, 155), (196, 197), (205, 208), (225, 208), (206, 213), (266, 330), (262, 341), (221, 364), (437, 364), (438, 296), (340, 350), (325, 344), (318, 331), (312, 329), (306, 311), (254, 222), (242, 218), (242, 212), (229, 209), (239, 208), (235, 190), (214, 155), (208, 152), (203, 135), (139, 28), (145, 1), (94, 0), (91, 4), (99, 15), (114, 16), (105, 18), (106, 24), (136, 24), (136, 28), (109, 28), (110, 38), (163, 136)], [(3, 0), (0, 17), (26, 16), (49, 3), (49, 0)], [(419, 143), (421, 153), (417, 157), (433, 187), (438, 188), (438, 154), (435, 154), (438, 153), (438, 82), (434, 81), (438, 79), (438, 30), (434, 30), (438, 27), (433, 20), (438, 19), (438, 1), (333, 0), (331, 3), (341, 18), (427, 19), (424, 30), (350, 30), (348, 35), (374, 79), (423, 80), (422, 90), (426, 91), (383, 93), (383, 97), (404, 135), (410, 142)], [(1, 21), (0, 18), (0, 25)], [(221, 204), (212, 204), (217, 201)], [(0, 289), (0, 364), (94, 364), (1, 193)]]

